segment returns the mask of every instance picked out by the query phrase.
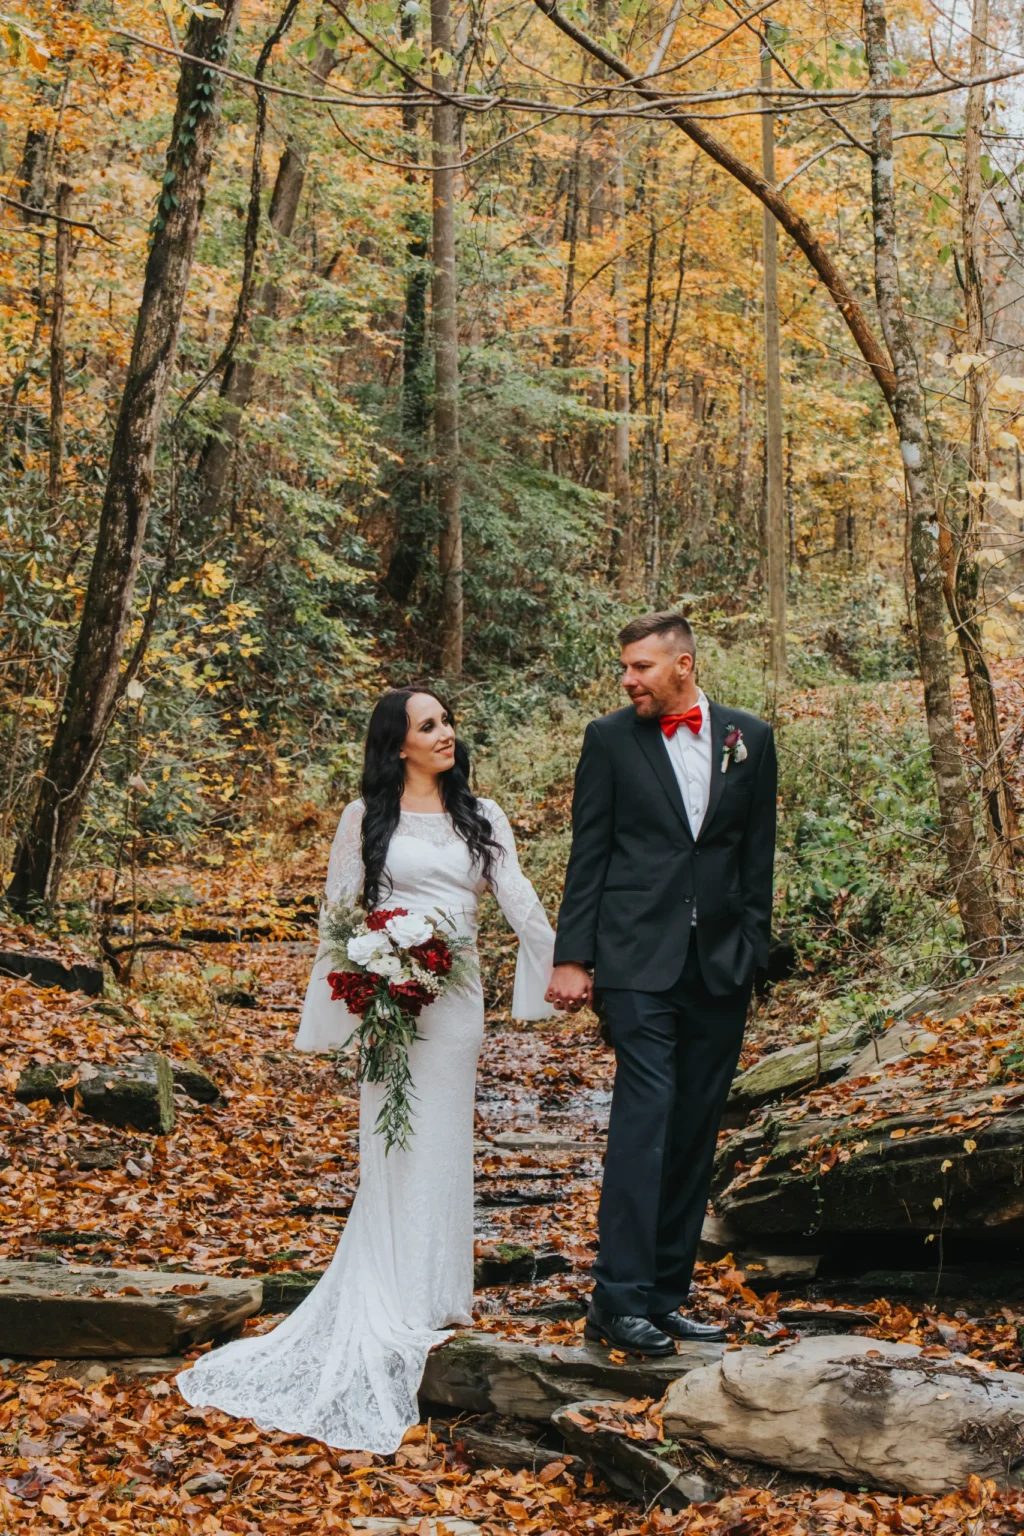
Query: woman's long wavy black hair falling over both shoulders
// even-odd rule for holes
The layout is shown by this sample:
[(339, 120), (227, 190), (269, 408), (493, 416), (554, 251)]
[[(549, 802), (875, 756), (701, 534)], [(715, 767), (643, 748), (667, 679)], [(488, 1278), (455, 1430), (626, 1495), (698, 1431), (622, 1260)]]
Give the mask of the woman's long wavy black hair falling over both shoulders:
[[(405, 768), (401, 750), (408, 736), (408, 700), (425, 693), (447, 711), (454, 730), (454, 716), (445, 700), (433, 688), (391, 688), (382, 694), (370, 716), (367, 745), (362, 759), (362, 905), (372, 911), (388, 894), (390, 882), (385, 872), (387, 849), (398, 819), (402, 813)], [(456, 737), (454, 766), (439, 774), (441, 803), (451, 817), (451, 825), (470, 849), (473, 862), (484, 879), (491, 883), (494, 860), (502, 846), (494, 829), (481, 809), (481, 802), (470, 788), (470, 754), (465, 743)]]

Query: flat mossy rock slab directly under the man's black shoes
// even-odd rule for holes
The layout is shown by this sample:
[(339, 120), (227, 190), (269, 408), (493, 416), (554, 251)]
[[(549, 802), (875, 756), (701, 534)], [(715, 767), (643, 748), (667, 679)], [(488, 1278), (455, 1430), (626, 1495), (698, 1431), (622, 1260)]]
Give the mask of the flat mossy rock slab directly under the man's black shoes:
[(660, 1398), (677, 1376), (720, 1358), (722, 1344), (680, 1344), (662, 1359), (616, 1364), (599, 1344), (520, 1344), (494, 1333), (456, 1333), (427, 1356), (424, 1404), (500, 1413), (545, 1424), (582, 1398)]

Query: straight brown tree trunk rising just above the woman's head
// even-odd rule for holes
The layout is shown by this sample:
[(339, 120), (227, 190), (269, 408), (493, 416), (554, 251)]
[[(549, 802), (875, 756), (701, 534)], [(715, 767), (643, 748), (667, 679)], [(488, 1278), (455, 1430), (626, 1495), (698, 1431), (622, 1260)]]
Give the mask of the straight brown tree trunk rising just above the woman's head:
[[(430, 48), (434, 60), (451, 57), (448, 0), (431, 0)], [(434, 69), (433, 88), (448, 91)], [(441, 671), (462, 673), (462, 487), (459, 481), (459, 310), (454, 266), (456, 109), (441, 95), (433, 108), (433, 335), (434, 335), (434, 490), (441, 536)]]

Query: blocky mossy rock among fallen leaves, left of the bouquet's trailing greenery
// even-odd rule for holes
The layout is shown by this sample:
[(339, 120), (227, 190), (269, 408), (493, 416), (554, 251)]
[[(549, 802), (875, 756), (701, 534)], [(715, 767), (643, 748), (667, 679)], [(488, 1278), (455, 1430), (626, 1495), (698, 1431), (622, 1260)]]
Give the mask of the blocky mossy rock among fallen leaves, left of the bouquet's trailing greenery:
[(158, 1051), (144, 1051), (112, 1066), (91, 1061), (29, 1066), (18, 1077), (14, 1097), (23, 1104), (37, 1098), (75, 1104), (111, 1126), (132, 1126), (157, 1135), (173, 1129), (173, 1071)]

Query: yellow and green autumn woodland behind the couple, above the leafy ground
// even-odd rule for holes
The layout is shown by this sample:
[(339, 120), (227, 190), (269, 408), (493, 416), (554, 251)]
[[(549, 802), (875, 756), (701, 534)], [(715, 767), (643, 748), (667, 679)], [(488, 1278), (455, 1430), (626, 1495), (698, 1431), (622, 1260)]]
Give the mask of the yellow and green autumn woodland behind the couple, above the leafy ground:
[[(668, 58), (699, 55), (669, 77), (674, 89), (722, 98), (705, 117), (752, 166), (758, 103), (735, 92), (755, 83), (771, 45), (801, 92), (775, 117), (775, 180), (795, 178), (788, 197), (870, 315), (861, 17), (791, 9), (772, 6), (768, 32), (768, 8), (742, 23), (726, 0), (571, 14), (629, 57), (646, 57), (674, 18)], [(107, 636), (120, 684), (89, 737), (95, 777), (77, 770), (89, 783), (61, 920), (94, 920), (111, 869), (180, 854), (218, 868), (290, 817), (336, 808), (385, 682), (447, 673), (482, 785), (527, 802), (563, 788), (582, 722), (614, 702), (616, 627), (679, 602), (702, 636), (705, 687), (778, 716), (778, 929), (803, 965), (872, 986), (963, 966), (963, 868), (947, 872), (949, 845), (944, 866), (952, 817), (936, 803), (915, 691), (913, 511), (883, 393), (783, 235), (783, 679), (766, 641), (761, 209), (676, 126), (602, 88), (608, 71), (525, 3), (457, 12), (451, 54), (433, 54), (434, 88), (457, 86), (467, 103), (454, 197), (464, 660), (442, 665), (448, 444), (431, 425), (431, 178), (410, 169), (430, 158), (431, 97), (401, 72), (430, 71), (430, 17), (379, 3), (348, 20), (252, 3), (238, 22), (154, 432), (152, 511), (132, 535), (138, 576), (127, 601), (121, 587), (117, 602), (98, 590), (94, 604), (123, 605)], [(200, 46), (204, 28), (227, 22), (216, 8), (69, 3), (5, 20), (8, 868), (52, 773), (112, 436), (134, 387), (146, 252), (167, 229), (163, 212), (173, 218), (173, 151), (164, 166), (180, 66), (167, 51), (189, 26)], [(1018, 18), (995, 8), (987, 26), (975, 72), (1012, 74)], [(1010, 690), (998, 745), (1012, 777), (1024, 608), (1016, 86), (970, 94), (983, 115), (966, 255), (970, 101), (930, 49), (966, 78), (970, 17), (901, 6), (889, 34), (894, 86), (936, 91), (892, 111), (901, 303), (933, 453), (929, 536), (953, 547), (947, 596), (963, 568), (975, 582), (970, 624), (953, 605), (943, 642), (958, 674), (956, 637), (970, 630)], [(253, 71), (293, 94), (256, 92), (243, 78)], [(854, 94), (844, 121), (829, 98), (829, 115), (818, 109), (823, 91)], [(309, 100), (324, 92), (338, 100)], [(471, 111), (488, 92), (533, 106)], [(596, 115), (594, 92), (622, 115)], [(74, 223), (32, 212), (58, 201)], [(990, 825), (986, 843), (992, 753), (976, 734), (963, 713), (969, 843), (1013, 932), (1016, 880), (1001, 879)], [(550, 895), (563, 842), (562, 829), (542, 860)], [(37, 880), (29, 905), (38, 899)], [(21, 911), (25, 900), (21, 889)], [(992, 925), (981, 929), (976, 955), (990, 949)]]

